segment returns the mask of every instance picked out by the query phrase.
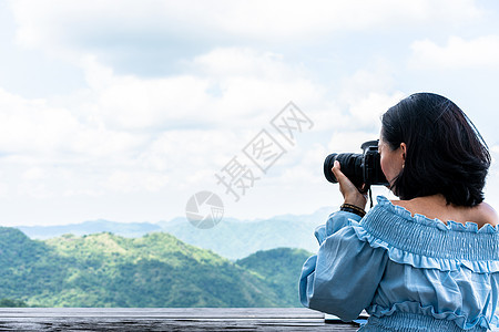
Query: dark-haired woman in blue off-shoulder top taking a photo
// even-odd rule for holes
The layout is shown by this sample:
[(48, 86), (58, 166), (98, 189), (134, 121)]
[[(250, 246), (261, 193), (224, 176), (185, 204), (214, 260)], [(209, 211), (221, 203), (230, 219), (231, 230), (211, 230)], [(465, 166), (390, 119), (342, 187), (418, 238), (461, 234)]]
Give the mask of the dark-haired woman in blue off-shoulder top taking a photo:
[[(390, 190), (365, 214), (365, 196), (333, 173), (345, 204), (315, 235), (302, 303), (359, 331), (486, 331), (499, 301), (499, 227), (483, 203), (490, 155), (451, 101), (417, 93), (381, 117), (379, 153)], [(364, 216), (365, 215), (365, 216)]]

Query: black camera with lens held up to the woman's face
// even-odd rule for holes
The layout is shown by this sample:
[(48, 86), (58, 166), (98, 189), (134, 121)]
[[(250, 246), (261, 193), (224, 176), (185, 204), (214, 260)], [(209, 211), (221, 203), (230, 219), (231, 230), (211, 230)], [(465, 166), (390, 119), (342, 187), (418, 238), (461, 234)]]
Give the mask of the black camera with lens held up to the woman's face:
[(360, 148), (361, 154), (330, 154), (324, 160), (324, 175), (329, 183), (338, 180), (330, 170), (335, 160), (342, 165), (343, 174), (357, 187), (366, 184), (366, 189), (371, 185), (387, 186), (388, 181), (383, 174), (380, 157), (378, 153), (378, 141), (365, 142)]

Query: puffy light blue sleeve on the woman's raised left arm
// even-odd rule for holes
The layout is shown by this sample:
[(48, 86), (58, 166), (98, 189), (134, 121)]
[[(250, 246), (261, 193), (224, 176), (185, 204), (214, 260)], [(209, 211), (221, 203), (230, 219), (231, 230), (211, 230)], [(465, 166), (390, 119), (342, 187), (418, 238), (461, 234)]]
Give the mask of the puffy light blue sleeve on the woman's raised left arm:
[(356, 235), (360, 217), (336, 212), (315, 235), (320, 243), (316, 256), (304, 264), (299, 297), (305, 307), (352, 321), (369, 305), (383, 277), (388, 257)]

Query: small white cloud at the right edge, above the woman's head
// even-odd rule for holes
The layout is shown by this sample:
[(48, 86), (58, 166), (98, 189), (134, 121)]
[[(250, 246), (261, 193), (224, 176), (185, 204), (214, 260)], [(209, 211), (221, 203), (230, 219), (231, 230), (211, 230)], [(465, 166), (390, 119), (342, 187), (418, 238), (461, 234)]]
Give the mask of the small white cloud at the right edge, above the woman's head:
[(410, 65), (427, 69), (497, 69), (499, 68), (499, 35), (471, 40), (450, 37), (446, 45), (431, 40), (411, 44)]

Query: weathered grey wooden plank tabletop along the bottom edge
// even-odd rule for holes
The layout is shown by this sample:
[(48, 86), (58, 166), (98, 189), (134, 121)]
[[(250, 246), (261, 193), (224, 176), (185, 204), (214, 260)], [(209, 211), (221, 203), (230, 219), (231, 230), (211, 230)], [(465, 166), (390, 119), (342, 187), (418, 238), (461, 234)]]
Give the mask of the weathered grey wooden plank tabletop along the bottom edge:
[(305, 308), (0, 308), (0, 331), (357, 331)]

